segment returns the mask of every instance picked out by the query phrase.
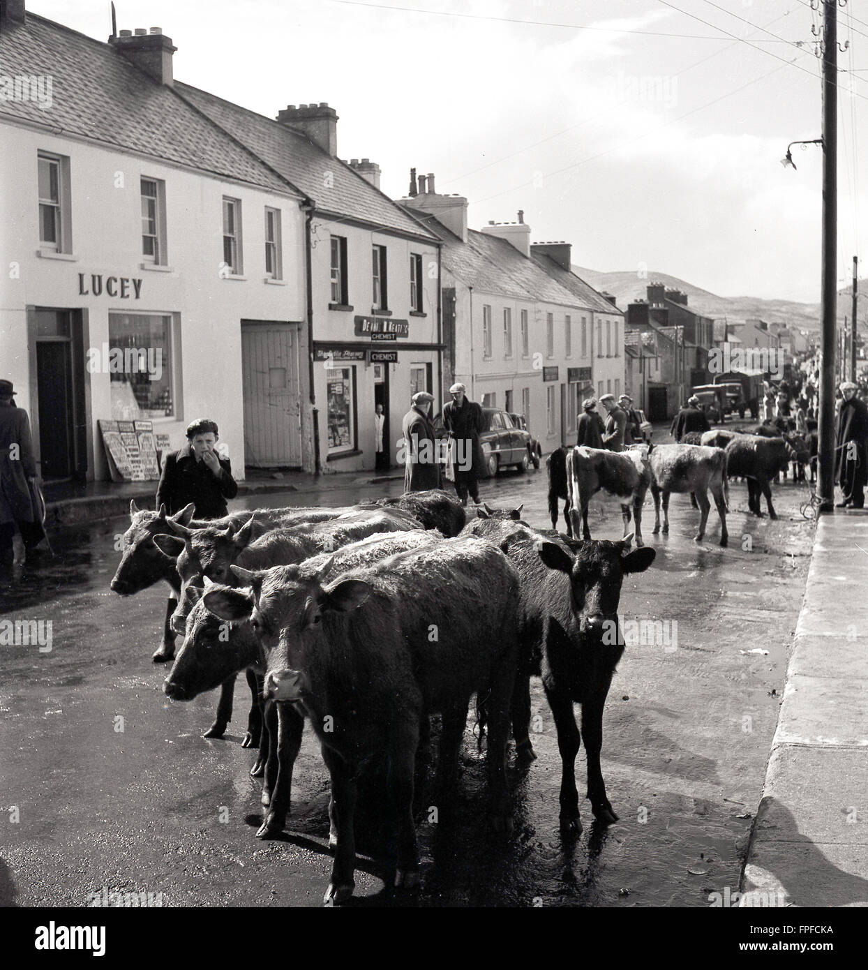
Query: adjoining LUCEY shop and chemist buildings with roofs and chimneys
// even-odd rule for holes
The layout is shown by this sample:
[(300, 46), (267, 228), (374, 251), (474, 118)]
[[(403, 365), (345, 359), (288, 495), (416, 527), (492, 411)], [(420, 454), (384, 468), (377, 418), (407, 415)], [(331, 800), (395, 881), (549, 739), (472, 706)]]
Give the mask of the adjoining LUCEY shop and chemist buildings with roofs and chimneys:
[(35, 81), (0, 99), (0, 359), (43, 476), (108, 478), (100, 420), (177, 448), (203, 415), (240, 478), (372, 469), (376, 403), (394, 461), (441, 386), (439, 241), (336, 157), (334, 109), (175, 81), (159, 28), (0, 12), (3, 75)]

